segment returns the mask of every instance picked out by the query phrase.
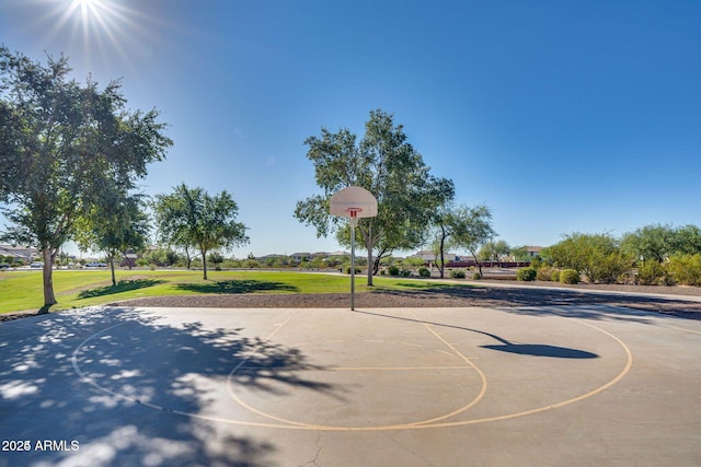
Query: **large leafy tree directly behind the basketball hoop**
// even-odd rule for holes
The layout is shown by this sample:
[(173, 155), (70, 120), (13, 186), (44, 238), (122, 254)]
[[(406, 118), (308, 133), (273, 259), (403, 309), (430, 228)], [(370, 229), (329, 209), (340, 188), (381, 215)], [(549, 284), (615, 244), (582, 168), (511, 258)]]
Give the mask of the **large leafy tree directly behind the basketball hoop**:
[(357, 227), (368, 265), (374, 265), (368, 267), (368, 285), (383, 256), (425, 242), (432, 213), (455, 196), (452, 182), (433, 176), (406, 141), (402, 125), (380, 109), (370, 112), (359, 142), (348, 129), (332, 133), (322, 128), (321, 136), (304, 143), (323, 192), (298, 201), (295, 217), (317, 227), (318, 236), (336, 230), (338, 241), (349, 244), (347, 223), (329, 214), (329, 200), (340, 189), (360, 186), (377, 198), (378, 215), (360, 219)]

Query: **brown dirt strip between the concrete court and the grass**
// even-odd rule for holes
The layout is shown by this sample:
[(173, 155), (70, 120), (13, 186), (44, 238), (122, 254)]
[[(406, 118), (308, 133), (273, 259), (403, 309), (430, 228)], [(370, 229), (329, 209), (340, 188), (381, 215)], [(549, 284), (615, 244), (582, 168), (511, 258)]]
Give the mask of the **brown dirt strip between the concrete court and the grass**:
[[(552, 306), (616, 305), (648, 312), (701, 319), (701, 288), (644, 285), (567, 285), (555, 282), (519, 282), (519, 288), (479, 282), (479, 287), (436, 287), (417, 291), (357, 293), (356, 308), (458, 307), (458, 306)], [(547, 287), (549, 289), (542, 289)], [(597, 290), (600, 293), (585, 293)], [(654, 293), (669, 296), (629, 296), (606, 292)], [(673, 296), (674, 295), (674, 296)], [(683, 296), (689, 296), (685, 300)], [(188, 296), (157, 296), (112, 303), (119, 306), (232, 307), (232, 308), (329, 308), (349, 307), (347, 293), (233, 293)], [(0, 315), (0, 320), (34, 316), (35, 312)]]

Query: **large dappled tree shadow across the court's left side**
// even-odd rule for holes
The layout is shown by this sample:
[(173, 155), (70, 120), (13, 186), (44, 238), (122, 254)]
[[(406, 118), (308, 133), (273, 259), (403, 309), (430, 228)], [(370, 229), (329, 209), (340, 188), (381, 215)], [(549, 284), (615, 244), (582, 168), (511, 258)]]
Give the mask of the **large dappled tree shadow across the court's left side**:
[[(0, 326), (0, 439), (27, 440), (32, 447), (2, 453), (0, 466), (271, 466), (274, 441), (241, 435), (226, 423), (271, 420), (227, 392), (343, 393), (300, 376), (323, 367), (299, 349), (244, 329), (172, 325), (128, 308), (77, 310)], [(43, 440), (66, 440), (68, 450), (36, 450)]]

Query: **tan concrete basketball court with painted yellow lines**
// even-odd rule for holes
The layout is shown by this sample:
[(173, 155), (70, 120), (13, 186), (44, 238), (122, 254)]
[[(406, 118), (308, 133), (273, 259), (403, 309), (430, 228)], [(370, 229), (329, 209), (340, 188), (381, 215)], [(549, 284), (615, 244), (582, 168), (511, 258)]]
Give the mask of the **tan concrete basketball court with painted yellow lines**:
[(701, 322), (627, 308), (94, 307), (0, 349), (0, 466), (701, 465)]

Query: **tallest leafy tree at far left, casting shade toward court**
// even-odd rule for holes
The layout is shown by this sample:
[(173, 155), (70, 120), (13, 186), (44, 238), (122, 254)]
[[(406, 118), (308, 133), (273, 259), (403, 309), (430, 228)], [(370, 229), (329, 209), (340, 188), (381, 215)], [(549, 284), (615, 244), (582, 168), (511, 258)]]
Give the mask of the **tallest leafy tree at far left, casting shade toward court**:
[(76, 222), (105, 187), (129, 190), (172, 141), (159, 113), (125, 109), (118, 82), (69, 79), (68, 59), (47, 63), (0, 46), (0, 201), (4, 237), (44, 258), (44, 310), (56, 303), (53, 264)]

